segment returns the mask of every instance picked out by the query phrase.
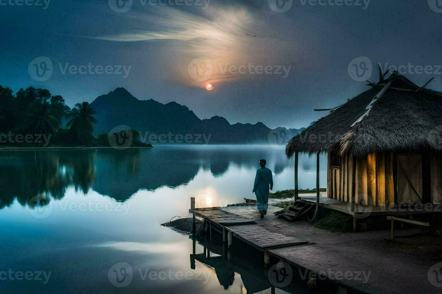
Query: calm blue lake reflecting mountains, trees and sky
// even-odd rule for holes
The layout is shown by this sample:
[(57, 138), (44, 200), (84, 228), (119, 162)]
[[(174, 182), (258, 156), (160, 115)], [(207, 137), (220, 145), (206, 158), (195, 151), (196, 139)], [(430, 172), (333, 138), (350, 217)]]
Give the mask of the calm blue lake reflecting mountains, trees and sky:
[[(269, 145), (1, 151), (0, 292), (246, 293), (238, 272), (221, 285), (220, 271), (191, 269), (189, 236), (160, 224), (190, 217), (190, 197), (197, 207), (254, 198), (262, 158), (274, 190), (293, 189), (293, 159)], [(316, 157), (299, 167), (300, 188), (314, 188)], [(321, 157), (321, 187), (325, 170)], [(118, 272), (126, 287), (114, 286), (118, 263), (132, 269)]]

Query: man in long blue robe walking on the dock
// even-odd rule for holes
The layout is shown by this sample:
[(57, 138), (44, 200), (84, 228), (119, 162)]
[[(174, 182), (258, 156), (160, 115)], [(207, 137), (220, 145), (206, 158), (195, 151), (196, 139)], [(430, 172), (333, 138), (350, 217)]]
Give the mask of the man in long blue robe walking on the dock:
[(256, 202), (258, 205), (261, 218), (267, 213), (267, 205), (269, 202), (269, 185), (270, 190), (273, 190), (272, 171), (266, 167), (266, 160), (259, 160), (261, 168), (256, 170), (255, 185), (252, 193), (256, 195)]

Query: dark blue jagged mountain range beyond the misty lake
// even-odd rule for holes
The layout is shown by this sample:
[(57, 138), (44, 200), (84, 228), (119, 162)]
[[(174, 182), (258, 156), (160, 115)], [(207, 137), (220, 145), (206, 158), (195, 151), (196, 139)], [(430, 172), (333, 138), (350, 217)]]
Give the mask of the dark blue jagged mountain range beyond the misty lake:
[[(95, 110), (94, 116), (98, 120), (95, 123), (95, 135), (108, 134), (115, 127), (124, 125), (139, 131), (141, 137), (145, 134), (148, 136), (152, 134), (156, 136), (204, 134), (206, 138), (210, 135), (211, 144), (258, 144), (269, 141), (284, 143), (291, 138), (291, 135), (304, 130), (304, 128), (299, 130), (278, 128), (271, 132), (269, 127), (260, 122), (253, 125), (250, 123), (231, 125), (221, 116), (199, 119), (187, 106), (176, 102), (162, 104), (153, 99), (138, 100), (124, 88), (117, 88), (108, 94), (101, 95), (90, 105)], [(149, 138), (148, 136), (146, 137)]]

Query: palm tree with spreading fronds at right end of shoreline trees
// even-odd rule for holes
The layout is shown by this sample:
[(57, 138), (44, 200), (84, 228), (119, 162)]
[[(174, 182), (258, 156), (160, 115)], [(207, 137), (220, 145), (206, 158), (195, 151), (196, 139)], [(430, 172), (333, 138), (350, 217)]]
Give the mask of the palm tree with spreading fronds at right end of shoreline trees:
[(66, 126), (71, 127), (71, 130), (82, 143), (92, 137), (92, 132), (94, 131), (93, 123), (97, 122), (95, 117), (93, 117), (95, 113), (88, 102), (83, 102), (82, 104), (75, 104), (75, 108), (66, 115), (66, 118), (72, 117)]

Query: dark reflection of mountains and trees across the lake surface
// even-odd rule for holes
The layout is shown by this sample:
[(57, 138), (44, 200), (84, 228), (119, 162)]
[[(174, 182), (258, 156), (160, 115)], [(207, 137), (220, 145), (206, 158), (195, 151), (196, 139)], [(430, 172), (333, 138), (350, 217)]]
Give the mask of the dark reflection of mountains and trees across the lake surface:
[[(0, 152), (0, 209), (15, 199), (26, 205), (41, 194), (61, 199), (66, 189), (126, 201), (138, 190), (154, 191), (160, 187), (176, 188), (189, 183), (198, 171), (210, 171), (214, 178), (226, 174), (234, 165), (254, 176), (258, 160), (266, 158), (275, 175), (292, 163), (283, 151), (263, 146), (161, 146), (154, 149), (81, 149)], [(312, 168), (305, 158), (301, 167)], [(324, 167), (324, 165), (323, 165)], [(281, 186), (280, 186), (281, 188)]]

